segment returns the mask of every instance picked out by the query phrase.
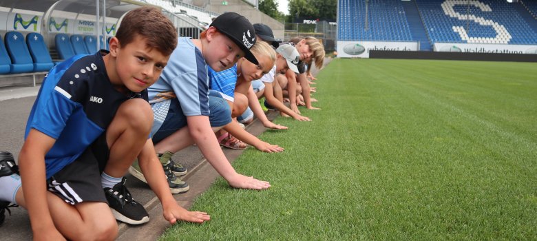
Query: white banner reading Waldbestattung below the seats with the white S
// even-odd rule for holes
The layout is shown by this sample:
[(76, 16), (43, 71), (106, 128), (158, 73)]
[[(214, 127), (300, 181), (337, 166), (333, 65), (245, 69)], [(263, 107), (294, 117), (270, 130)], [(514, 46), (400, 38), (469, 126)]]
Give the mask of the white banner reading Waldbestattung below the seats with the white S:
[(436, 52), (537, 54), (537, 45), (488, 43), (434, 43)]

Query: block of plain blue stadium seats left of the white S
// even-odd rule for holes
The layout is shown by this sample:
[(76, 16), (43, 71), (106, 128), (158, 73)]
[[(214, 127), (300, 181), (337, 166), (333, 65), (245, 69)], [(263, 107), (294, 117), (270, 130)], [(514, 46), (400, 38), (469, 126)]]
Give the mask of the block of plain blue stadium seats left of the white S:
[(340, 0), (338, 39), (361, 41), (412, 41), (401, 1)]

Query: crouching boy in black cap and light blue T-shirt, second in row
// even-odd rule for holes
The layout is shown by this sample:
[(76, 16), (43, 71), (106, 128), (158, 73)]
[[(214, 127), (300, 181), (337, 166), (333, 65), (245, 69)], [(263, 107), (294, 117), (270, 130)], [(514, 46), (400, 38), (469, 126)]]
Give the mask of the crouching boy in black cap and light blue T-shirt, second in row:
[[(253, 26), (245, 17), (235, 12), (221, 14), (200, 39), (178, 39), (178, 48), (171, 54), (166, 70), (149, 88), (154, 112), (151, 133), (173, 193), (187, 191), (188, 185), (173, 173), (171, 156), (192, 143), (198, 144), (204, 157), (232, 187), (270, 187), (268, 182), (238, 174), (231, 167), (214, 134), (231, 122), (231, 110), (223, 98), (208, 96), (207, 65), (215, 71), (227, 70), (243, 56), (258, 64), (250, 52), (255, 41)], [(182, 170), (179, 167), (177, 171)], [(146, 179), (136, 163), (129, 172), (140, 180)]]

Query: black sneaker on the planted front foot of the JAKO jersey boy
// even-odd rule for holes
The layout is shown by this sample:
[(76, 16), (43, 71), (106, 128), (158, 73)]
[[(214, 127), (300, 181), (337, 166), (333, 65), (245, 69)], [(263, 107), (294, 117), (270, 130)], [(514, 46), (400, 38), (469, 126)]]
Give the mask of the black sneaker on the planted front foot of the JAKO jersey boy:
[(105, 196), (108, 201), (108, 206), (112, 209), (112, 213), (116, 220), (126, 222), (128, 224), (143, 224), (149, 222), (149, 214), (145, 211), (143, 205), (134, 201), (123, 178), (121, 182), (114, 187), (105, 188)]

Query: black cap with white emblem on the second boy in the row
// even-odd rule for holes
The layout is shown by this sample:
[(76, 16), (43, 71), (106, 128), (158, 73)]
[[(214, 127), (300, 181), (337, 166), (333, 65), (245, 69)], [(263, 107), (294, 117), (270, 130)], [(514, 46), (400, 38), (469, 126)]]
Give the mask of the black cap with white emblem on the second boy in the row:
[(253, 56), (250, 49), (255, 44), (255, 30), (248, 19), (236, 12), (224, 12), (220, 16), (214, 19), (211, 25), (216, 28), (222, 34), (225, 34), (233, 42), (235, 42), (239, 48), (244, 51), (244, 57), (248, 61), (259, 64), (255, 56)]

